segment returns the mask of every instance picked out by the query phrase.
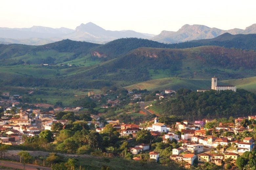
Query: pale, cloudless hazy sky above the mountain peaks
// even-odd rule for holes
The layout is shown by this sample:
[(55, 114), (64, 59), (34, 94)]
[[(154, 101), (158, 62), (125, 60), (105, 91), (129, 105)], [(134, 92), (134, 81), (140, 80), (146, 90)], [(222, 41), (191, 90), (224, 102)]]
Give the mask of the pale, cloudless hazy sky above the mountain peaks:
[(255, 0), (1, 0), (0, 27), (75, 29), (92, 22), (106, 30), (159, 34), (182, 25), (233, 29), (256, 23)]

